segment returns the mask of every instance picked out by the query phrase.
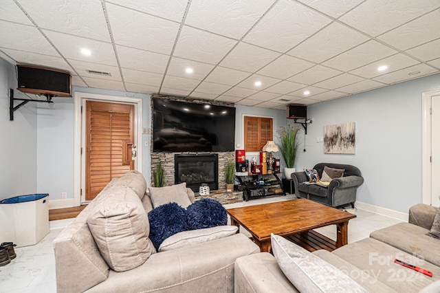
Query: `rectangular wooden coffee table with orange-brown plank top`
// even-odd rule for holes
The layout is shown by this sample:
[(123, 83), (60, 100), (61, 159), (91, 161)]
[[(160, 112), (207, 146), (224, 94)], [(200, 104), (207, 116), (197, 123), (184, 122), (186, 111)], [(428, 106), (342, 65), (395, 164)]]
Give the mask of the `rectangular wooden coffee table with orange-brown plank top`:
[[(356, 217), (351, 213), (304, 198), (230, 208), (227, 211), (231, 218), (231, 225), (242, 226), (248, 230), (262, 252), (270, 252), (271, 233), (299, 242), (298, 244), (303, 244), (301, 246), (307, 245), (306, 248), (309, 250), (320, 249), (321, 247), (317, 246), (320, 246), (321, 242), (327, 250), (340, 248), (348, 243), (349, 220)], [(336, 225), (337, 232), (336, 242), (333, 241), (333, 243), (331, 239), (311, 231), (333, 224)], [(322, 241), (316, 241), (316, 239)], [(306, 244), (307, 241), (315, 244)], [(333, 248), (331, 248), (332, 245)]]

